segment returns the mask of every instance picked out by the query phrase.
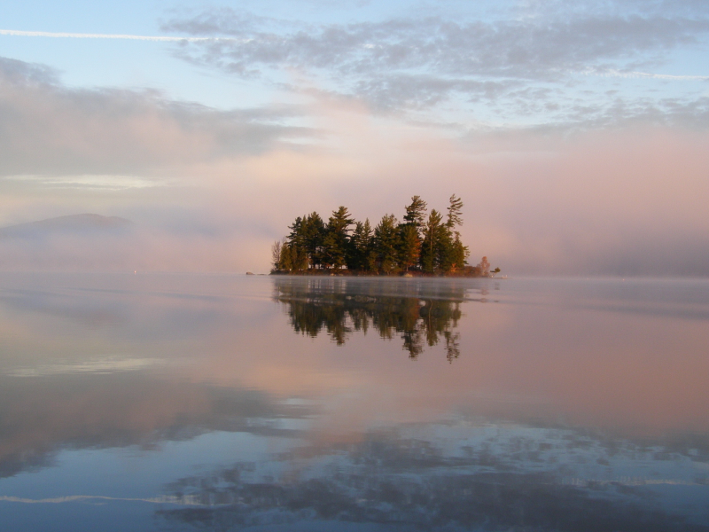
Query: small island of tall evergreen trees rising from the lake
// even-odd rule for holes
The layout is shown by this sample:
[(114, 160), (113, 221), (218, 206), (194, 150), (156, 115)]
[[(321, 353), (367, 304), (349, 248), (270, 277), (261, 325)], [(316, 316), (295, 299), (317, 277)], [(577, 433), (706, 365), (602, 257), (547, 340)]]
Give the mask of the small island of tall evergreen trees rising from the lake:
[(357, 222), (347, 207), (333, 211), (327, 223), (316, 212), (299, 216), (291, 233), (272, 246), (271, 274), (403, 275), (492, 277), (487, 257), (477, 266), (457, 228), (463, 225), (463, 201), (450, 197), (448, 213), (427, 213), (419, 196), (411, 198), (399, 222), (384, 215), (372, 228), (369, 219)]

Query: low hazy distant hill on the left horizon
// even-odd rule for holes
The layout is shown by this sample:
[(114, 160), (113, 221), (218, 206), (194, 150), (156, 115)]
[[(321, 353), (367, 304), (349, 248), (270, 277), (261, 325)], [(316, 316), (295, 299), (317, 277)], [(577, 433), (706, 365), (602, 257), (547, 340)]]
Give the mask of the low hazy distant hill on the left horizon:
[(54, 235), (122, 233), (133, 223), (118, 216), (68, 215), (0, 228), (0, 239), (42, 239)]

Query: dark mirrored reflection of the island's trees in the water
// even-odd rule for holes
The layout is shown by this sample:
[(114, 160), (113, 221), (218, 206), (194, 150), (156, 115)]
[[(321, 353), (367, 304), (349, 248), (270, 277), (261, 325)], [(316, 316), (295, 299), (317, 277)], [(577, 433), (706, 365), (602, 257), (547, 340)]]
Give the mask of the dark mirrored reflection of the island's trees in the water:
[(351, 332), (375, 329), (381, 338), (401, 335), (411, 358), (445, 340), (448, 360), (460, 355), (466, 288), (454, 283), (362, 279), (277, 278), (274, 300), (284, 303), (296, 332), (316, 337), (323, 330), (342, 345)]

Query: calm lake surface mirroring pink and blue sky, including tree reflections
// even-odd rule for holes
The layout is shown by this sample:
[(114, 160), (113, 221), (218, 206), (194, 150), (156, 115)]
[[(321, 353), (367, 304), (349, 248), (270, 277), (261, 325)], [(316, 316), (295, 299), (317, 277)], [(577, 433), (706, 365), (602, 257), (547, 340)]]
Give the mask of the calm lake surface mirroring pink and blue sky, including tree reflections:
[(0, 276), (1, 530), (709, 530), (709, 281)]

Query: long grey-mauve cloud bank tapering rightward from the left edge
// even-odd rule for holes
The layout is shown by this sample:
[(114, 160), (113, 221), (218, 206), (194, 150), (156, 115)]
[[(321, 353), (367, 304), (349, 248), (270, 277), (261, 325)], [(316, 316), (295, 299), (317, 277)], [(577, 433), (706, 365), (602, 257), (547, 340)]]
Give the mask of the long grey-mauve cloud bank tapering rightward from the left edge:
[(149, 174), (263, 153), (313, 131), (294, 107), (215, 110), (154, 90), (70, 89), (46, 66), (0, 58), (0, 176)]

